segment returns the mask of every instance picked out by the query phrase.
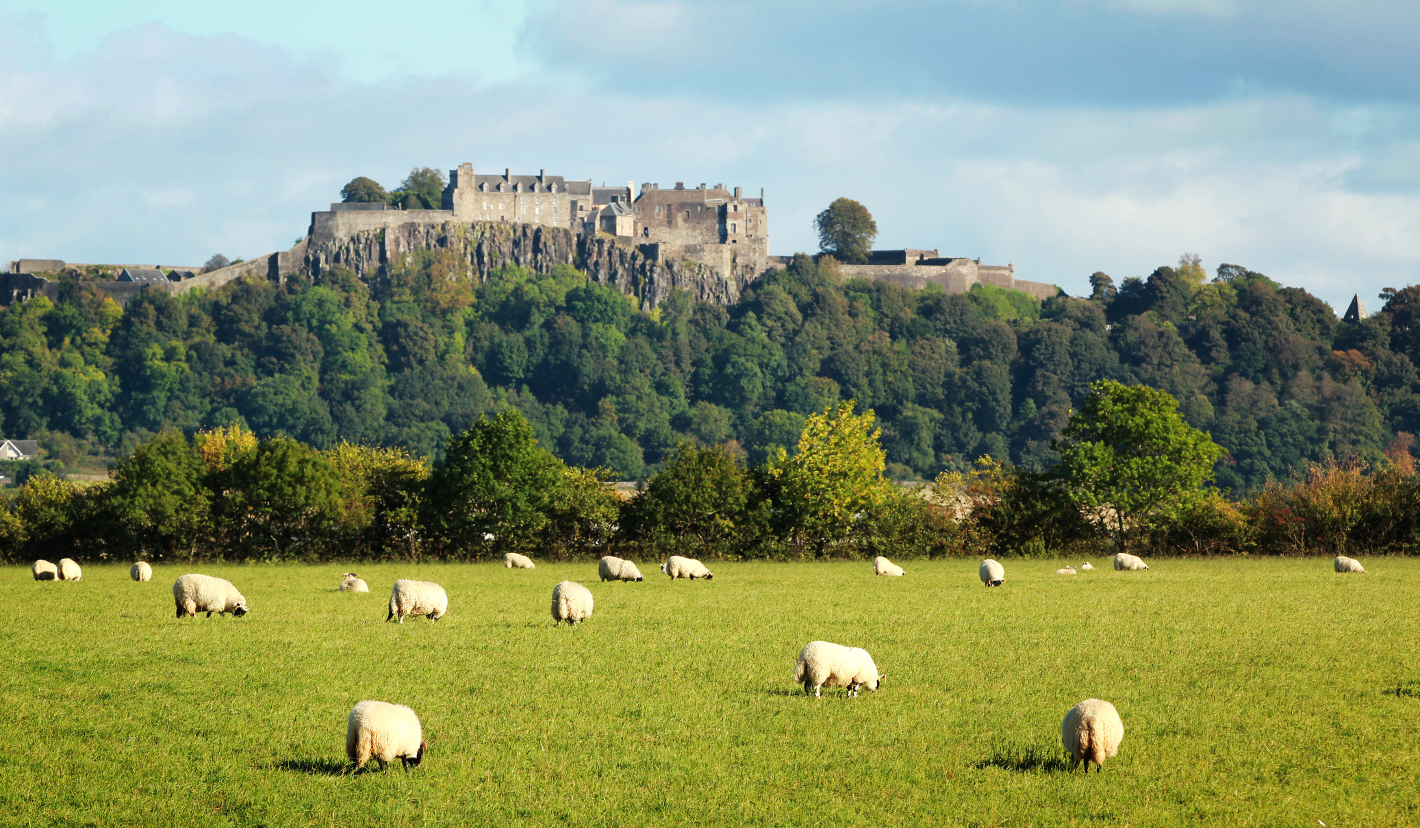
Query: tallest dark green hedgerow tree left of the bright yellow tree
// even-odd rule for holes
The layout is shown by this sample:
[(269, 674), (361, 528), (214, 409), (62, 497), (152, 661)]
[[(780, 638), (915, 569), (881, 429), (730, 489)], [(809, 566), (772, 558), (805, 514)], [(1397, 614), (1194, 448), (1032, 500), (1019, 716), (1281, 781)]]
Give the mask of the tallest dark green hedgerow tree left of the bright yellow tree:
[(562, 462), (537, 445), (532, 426), (517, 410), (483, 415), (449, 440), (425, 494), (425, 525), (446, 551), (538, 543), (548, 507), (564, 481)]

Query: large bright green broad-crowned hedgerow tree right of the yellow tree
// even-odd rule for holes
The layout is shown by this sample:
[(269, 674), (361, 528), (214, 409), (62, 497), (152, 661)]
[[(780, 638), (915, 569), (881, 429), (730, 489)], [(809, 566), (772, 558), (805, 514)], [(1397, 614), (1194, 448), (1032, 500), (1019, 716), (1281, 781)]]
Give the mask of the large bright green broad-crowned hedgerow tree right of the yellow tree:
[(1051, 442), (1065, 496), (1098, 514), (1122, 551), (1132, 530), (1196, 496), (1224, 453), (1177, 409), (1166, 391), (1102, 379)]

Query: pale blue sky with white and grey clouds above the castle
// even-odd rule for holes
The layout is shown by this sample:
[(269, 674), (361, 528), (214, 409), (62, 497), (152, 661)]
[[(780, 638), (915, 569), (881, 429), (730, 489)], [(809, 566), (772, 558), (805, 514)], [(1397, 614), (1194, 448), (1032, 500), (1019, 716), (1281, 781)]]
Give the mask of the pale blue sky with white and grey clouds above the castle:
[(0, 0), (0, 263), (290, 247), (412, 168), (763, 187), (775, 254), (1420, 281), (1414, 0)]

